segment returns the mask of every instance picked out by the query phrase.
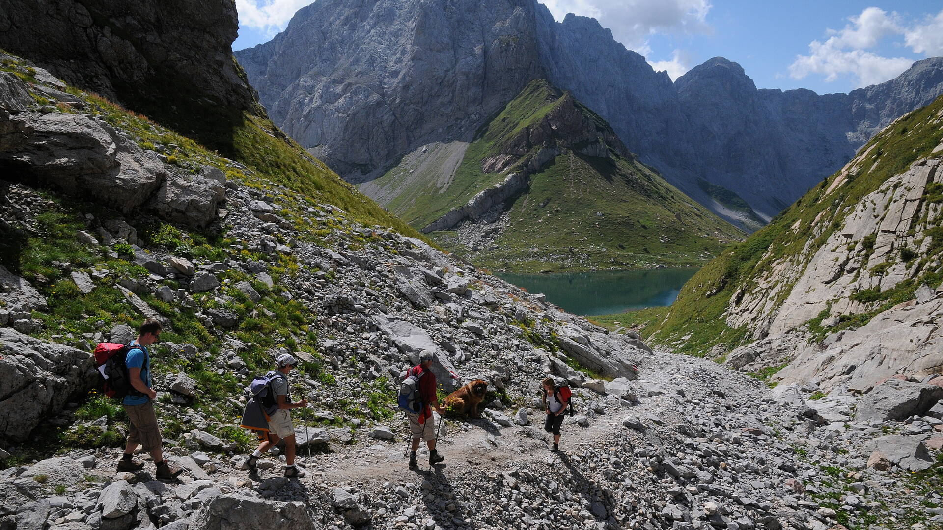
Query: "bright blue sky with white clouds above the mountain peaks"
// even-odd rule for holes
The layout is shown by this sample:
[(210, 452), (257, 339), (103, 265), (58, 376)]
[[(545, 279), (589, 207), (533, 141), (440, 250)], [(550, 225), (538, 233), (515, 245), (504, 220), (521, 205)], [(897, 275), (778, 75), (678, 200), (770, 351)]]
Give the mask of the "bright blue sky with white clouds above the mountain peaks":
[[(269, 41), (310, 0), (236, 0), (233, 49)], [(758, 88), (846, 92), (943, 56), (939, 0), (546, 0), (604, 21), (616, 39), (672, 77), (712, 57), (740, 63)]]

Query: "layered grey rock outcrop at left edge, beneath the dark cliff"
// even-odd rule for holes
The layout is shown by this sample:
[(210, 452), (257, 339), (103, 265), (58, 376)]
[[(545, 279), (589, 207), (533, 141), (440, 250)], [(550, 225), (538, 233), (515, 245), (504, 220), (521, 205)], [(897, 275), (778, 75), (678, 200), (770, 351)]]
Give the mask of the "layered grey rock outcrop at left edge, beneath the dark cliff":
[[(99, 117), (36, 108), (25, 82), (8, 72), (0, 72), (0, 86), (0, 170), (8, 180), (82, 194), (125, 214), (150, 209), (196, 227), (216, 221), (226, 182), (219, 169), (191, 174)], [(37, 90), (67, 108), (84, 105), (53, 86), (38, 83)]]

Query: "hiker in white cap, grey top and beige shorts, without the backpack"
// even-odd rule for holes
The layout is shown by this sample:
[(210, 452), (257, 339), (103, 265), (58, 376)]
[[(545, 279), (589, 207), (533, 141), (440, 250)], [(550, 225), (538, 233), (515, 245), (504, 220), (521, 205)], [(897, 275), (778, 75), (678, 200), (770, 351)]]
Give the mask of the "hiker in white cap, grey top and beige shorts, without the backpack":
[(249, 467), (256, 467), (258, 458), (262, 453), (268, 451), (279, 439), (285, 440), (285, 476), (303, 477), (306, 472), (294, 463), (295, 439), (294, 425), (291, 424), (289, 410), (292, 408), (302, 408), (307, 406), (307, 400), (303, 399), (298, 403), (291, 403), (289, 398), (289, 377), (288, 374), (294, 369), (297, 361), (291, 354), (282, 354), (275, 359), (278, 363), (278, 370), (273, 370), (266, 375), (272, 379), (272, 391), (277, 400), (272, 410), (266, 410), (269, 414), (269, 439), (258, 444), (256, 451), (249, 456)]

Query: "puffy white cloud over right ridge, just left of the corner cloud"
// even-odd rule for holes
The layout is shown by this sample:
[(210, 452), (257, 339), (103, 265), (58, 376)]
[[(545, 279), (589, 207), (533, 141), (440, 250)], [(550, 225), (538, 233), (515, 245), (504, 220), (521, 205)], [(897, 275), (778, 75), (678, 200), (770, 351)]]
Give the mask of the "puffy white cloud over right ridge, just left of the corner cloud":
[(840, 31), (828, 30), (828, 40), (809, 43), (809, 55), (797, 56), (789, 65), (789, 75), (802, 79), (806, 75), (825, 75), (826, 82), (841, 75), (854, 75), (858, 86), (882, 83), (900, 75), (914, 62), (910, 58), (885, 58), (867, 51), (888, 36), (904, 32), (897, 13), (881, 8), (865, 8), (860, 15), (849, 17), (851, 24)]

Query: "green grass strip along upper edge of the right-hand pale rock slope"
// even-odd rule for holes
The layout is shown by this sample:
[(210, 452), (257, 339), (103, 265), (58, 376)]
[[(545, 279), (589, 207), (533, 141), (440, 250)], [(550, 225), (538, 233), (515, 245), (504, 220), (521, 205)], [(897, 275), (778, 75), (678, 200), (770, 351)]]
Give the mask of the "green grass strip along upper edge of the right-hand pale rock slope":
[[(772, 262), (799, 256), (802, 248), (809, 244), (810, 226), (819, 214), (822, 215), (819, 223), (827, 224), (827, 227), (811, 242), (813, 249), (828, 240), (863, 197), (878, 190), (888, 178), (906, 171), (919, 158), (931, 155), (943, 140), (943, 126), (938, 123), (941, 112), (943, 97), (885, 128), (861, 148), (859, 157), (863, 157), (863, 163), (859, 171), (849, 175), (836, 190), (825, 193), (835, 179), (841, 178), (840, 171), (825, 178), (747, 240), (732, 245), (720, 257), (707, 263), (685, 284), (664, 316), (639, 315), (635, 323), (642, 326), (642, 336), (655, 343), (678, 341), (676, 348), (679, 351), (702, 356), (716, 344), (724, 343), (733, 348), (746, 342), (750, 333), (747, 326), (733, 329), (725, 323), (727, 307), (736, 290), (752, 288), (756, 278)], [(873, 149), (865, 156), (871, 147)], [(929, 191), (933, 193), (933, 190)], [(798, 224), (798, 229), (791, 229), (795, 224)], [(920, 257), (921, 262), (929, 262), (930, 257), (941, 251), (943, 245), (935, 243), (927, 256)], [(809, 253), (804, 258), (807, 260), (811, 256)], [(914, 284), (909, 284), (902, 290), (915, 288)], [(789, 289), (783, 290), (775, 302), (781, 304), (788, 292)], [(895, 291), (888, 296), (897, 299), (906, 293)], [(887, 308), (886, 304), (880, 307)], [(848, 325), (863, 325), (877, 314), (874, 311), (869, 313), (867, 318), (856, 318)], [(682, 340), (684, 337), (687, 339)]]

